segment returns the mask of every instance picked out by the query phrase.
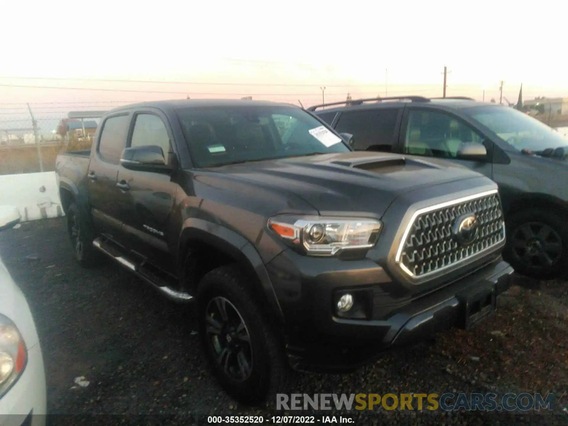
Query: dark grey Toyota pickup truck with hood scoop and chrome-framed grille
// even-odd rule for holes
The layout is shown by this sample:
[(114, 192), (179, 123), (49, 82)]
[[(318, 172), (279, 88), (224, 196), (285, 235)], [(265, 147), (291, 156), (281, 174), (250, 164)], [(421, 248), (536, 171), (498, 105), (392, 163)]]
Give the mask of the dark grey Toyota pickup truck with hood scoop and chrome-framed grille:
[[(512, 268), (481, 174), (353, 152), (299, 107), (117, 108), (56, 163), (73, 253), (194, 304), (219, 381), (248, 402), (495, 308)], [(288, 358), (286, 357), (288, 356)]]

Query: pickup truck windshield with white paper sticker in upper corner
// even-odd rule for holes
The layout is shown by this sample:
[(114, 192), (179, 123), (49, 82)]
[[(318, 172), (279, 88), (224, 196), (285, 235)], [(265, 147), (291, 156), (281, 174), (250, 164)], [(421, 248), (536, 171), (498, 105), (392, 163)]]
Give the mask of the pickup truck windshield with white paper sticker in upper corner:
[(177, 114), (198, 168), (350, 151), (335, 133), (300, 108), (189, 107)]

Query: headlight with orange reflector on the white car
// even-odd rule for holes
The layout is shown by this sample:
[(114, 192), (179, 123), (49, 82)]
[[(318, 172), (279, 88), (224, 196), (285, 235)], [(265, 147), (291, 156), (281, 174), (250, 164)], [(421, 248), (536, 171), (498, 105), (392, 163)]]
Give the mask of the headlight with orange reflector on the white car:
[(18, 328), (0, 315), (0, 398), (18, 380), (26, 361), (26, 345)]

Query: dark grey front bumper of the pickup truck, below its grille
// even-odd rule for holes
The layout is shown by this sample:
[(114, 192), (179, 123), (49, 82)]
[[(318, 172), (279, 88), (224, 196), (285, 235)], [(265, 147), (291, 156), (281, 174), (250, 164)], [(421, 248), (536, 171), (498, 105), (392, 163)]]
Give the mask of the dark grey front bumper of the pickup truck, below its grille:
[[(495, 298), (511, 285), (513, 272), (500, 256), (471, 268), (452, 282), (425, 285), (420, 293), (419, 286), (393, 281), (368, 259), (308, 259), (290, 251), (282, 253), (270, 262), (268, 271), (287, 321), (293, 366), (355, 365), (378, 350), (465, 326), (468, 300), (480, 292)], [(369, 295), (367, 318), (340, 318), (335, 312), (338, 292)]]

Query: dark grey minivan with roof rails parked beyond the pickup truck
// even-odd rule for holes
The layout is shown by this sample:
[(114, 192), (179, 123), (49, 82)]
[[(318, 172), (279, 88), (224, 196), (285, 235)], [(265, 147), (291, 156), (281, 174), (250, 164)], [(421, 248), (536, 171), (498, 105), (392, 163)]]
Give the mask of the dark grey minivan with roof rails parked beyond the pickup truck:
[(493, 179), (507, 223), (504, 258), (535, 278), (568, 272), (568, 140), (550, 127), (470, 98), (359, 99), (308, 110), (352, 135), (356, 150), (441, 158)]

